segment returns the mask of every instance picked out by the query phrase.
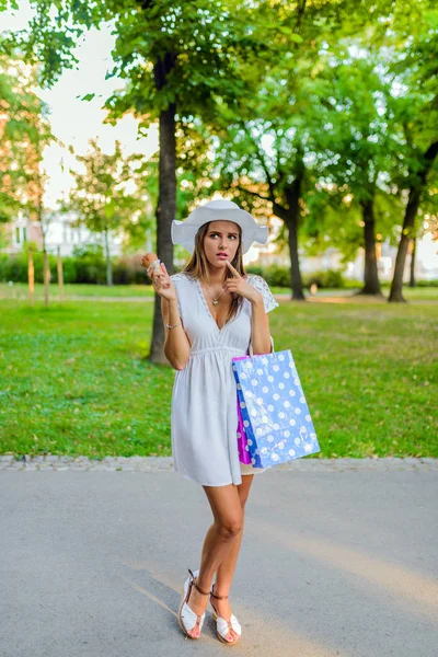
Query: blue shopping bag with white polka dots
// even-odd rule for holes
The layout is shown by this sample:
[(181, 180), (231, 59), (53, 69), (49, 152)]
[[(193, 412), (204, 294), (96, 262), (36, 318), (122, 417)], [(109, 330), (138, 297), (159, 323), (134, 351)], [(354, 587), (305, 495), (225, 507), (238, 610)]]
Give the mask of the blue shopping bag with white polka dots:
[(321, 451), (290, 349), (239, 356), (232, 369), (245, 449), (254, 468)]

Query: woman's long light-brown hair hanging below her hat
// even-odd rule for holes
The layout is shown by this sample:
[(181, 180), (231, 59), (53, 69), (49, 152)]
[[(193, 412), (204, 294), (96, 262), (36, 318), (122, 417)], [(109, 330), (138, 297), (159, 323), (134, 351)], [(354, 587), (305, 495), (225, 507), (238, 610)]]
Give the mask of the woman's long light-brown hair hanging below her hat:
[[(191, 278), (198, 278), (201, 283), (205, 283), (207, 286), (210, 283), (210, 277), (208, 273), (208, 261), (204, 251), (204, 238), (208, 232), (208, 227), (210, 226), (210, 223), (211, 221), (208, 221), (208, 223), (204, 223), (197, 231), (195, 235), (194, 252), (192, 253), (191, 260), (185, 265), (184, 269), (182, 269), (182, 272), (187, 274), (187, 276), (189, 276)], [(234, 267), (234, 269), (237, 269), (239, 274), (243, 276), (243, 278), (246, 278), (246, 273), (243, 267), (242, 229), (239, 224), (237, 226), (239, 227), (239, 246), (233, 260), (231, 261), (231, 264)], [(228, 267), (227, 278), (232, 278), (232, 274)], [(242, 306), (242, 303), (243, 297), (241, 297), (240, 295), (233, 295), (231, 308), (228, 312), (223, 325), (230, 322), (237, 315), (238, 310)]]

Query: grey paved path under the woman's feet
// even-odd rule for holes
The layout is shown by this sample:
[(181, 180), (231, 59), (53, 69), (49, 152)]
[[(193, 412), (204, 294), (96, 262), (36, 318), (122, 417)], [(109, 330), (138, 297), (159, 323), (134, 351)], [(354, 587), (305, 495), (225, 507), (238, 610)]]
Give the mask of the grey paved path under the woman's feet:
[(209, 611), (197, 642), (176, 621), (211, 522), (201, 486), (165, 460), (143, 472), (1, 461), (1, 657), (436, 657), (437, 461), (334, 461), (254, 479), (233, 648)]

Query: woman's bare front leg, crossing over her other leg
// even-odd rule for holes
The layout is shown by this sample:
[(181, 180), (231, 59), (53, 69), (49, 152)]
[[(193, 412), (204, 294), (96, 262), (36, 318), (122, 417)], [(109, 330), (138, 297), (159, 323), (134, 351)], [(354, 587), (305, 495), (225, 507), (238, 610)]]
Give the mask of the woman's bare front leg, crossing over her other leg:
[[(212, 577), (219, 564), (229, 552), (234, 538), (242, 531), (243, 510), (238, 487), (234, 484), (203, 487), (210, 503), (215, 521), (209, 527), (204, 541), (196, 584), (203, 590), (208, 591), (211, 589)], [(207, 607), (208, 596), (204, 596), (195, 587), (192, 587), (187, 603), (199, 615)], [(193, 627), (191, 635), (199, 636), (198, 624)]]

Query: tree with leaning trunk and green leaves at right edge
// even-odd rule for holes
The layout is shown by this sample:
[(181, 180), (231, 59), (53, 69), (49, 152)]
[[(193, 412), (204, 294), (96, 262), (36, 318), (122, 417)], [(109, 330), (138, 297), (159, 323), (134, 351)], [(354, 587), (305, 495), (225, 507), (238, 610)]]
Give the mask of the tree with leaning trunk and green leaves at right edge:
[(428, 194), (428, 181), (437, 175), (438, 93), (436, 53), (438, 12), (429, 2), (417, 3), (415, 21), (393, 36), (394, 56), (390, 72), (393, 82), (392, 110), (403, 129), (400, 168), (394, 176), (406, 199), (394, 276), (389, 301), (405, 302), (403, 274), (410, 241), (418, 231), (416, 218), (422, 205), (437, 209), (436, 194)]

